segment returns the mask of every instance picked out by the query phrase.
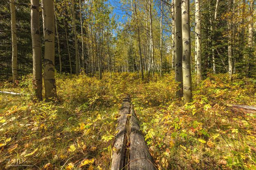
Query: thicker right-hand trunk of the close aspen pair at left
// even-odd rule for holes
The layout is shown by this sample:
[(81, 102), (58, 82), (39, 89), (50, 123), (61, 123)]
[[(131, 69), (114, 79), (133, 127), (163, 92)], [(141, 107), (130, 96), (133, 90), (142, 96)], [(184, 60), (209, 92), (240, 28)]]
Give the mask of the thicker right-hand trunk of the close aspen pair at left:
[(43, 60), (45, 98), (52, 100), (57, 98), (54, 70), (54, 2), (53, 0), (42, 0), (45, 28), (45, 56)]

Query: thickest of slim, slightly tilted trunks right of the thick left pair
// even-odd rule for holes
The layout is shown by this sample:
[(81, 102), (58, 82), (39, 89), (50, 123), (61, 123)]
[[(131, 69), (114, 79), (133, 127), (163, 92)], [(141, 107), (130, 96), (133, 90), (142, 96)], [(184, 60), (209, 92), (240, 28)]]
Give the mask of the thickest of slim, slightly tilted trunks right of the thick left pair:
[(78, 58), (78, 46), (77, 46), (77, 29), (75, 24), (75, 2), (72, 0), (72, 23), (74, 29), (74, 36), (75, 36), (75, 72), (78, 75), (80, 73), (80, 65), (79, 65), (79, 58)]

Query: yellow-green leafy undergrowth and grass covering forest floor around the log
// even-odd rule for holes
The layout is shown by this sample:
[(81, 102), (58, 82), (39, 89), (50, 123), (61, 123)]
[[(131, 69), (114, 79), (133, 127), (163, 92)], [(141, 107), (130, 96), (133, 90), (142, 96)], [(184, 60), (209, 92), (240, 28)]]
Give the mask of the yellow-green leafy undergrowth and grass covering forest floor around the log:
[[(1, 82), (0, 169), (108, 170), (122, 97), (131, 95), (159, 170), (256, 170), (256, 80), (208, 74), (193, 83), (193, 102), (175, 97), (174, 74), (56, 76), (59, 101), (32, 102), (32, 75)], [(193, 80), (195, 82), (195, 80)]]

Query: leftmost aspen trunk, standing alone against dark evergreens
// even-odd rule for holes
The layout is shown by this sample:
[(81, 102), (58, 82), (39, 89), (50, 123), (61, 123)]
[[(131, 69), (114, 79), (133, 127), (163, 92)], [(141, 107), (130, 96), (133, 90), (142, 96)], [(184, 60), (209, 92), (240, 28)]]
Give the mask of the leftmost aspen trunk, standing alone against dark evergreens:
[(11, 8), (11, 46), (12, 46), (12, 61), (11, 61), (11, 70), (12, 70), (12, 82), (18, 80), (18, 68), (17, 68), (17, 34), (16, 34), (16, 9), (15, 1), (10, 0)]

